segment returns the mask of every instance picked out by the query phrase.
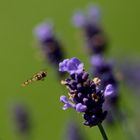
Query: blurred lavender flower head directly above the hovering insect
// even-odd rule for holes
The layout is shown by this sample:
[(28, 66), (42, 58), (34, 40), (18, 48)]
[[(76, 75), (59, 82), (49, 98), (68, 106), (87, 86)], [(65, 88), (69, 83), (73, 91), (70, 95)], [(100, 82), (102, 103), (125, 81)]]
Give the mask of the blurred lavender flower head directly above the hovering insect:
[[(45, 60), (58, 68), (59, 62), (64, 58), (64, 52), (60, 41), (55, 36), (52, 23), (44, 22), (39, 24), (34, 29), (34, 34), (41, 45)], [(60, 72), (58, 74), (63, 76)]]

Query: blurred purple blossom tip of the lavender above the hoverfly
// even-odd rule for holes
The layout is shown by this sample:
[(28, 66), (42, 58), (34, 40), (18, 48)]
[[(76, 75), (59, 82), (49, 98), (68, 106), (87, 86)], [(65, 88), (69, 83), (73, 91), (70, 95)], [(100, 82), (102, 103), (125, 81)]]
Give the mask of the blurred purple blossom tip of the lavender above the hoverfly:
[(39, 24), (35, 28), (34, 34), (40, 41), (44, 41), (47, 38), (51, 38), (53, 36), (53, 25), (47, 22)]

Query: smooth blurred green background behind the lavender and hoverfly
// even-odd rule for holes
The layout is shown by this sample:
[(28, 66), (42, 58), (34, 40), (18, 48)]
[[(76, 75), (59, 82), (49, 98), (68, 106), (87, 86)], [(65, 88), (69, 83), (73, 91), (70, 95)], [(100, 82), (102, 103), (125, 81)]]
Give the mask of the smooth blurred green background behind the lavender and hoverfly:
[[(81, 114), (73, 110), (63, 111), (59, 96), (66, 94), (57, 81), (52, 67), (47, 66), (48, 76), (44, 82), (25, 88), (21, 83), (43, 69), (45, 64), (38, 60), (33, 28), (44, 19), (52, 19), (56, 32), (62, 40), (67, 57), (76, 56), (89, 69), (89, 58), (77, 40), (79, 34), (71, 25), (71, 16), (77, 8), (86, 9), (90, 3), (102, 9), (102, 23), (110, 39), (108, 55), (121, 62), (125, 57), (138, 58), (140, 54), (140, 1), (138, 0), (1, 0), (0, 1), (0, 139), (19, 140), (11, 119), (11, 105), (25, 103), (31, 111), (33, 130), (30, 140), (62, 140), (65, 123), (71, 117), (78, 120), (88, 140), (101, 140), (96, 127), (82, 125)], [(81, 47), (82, 46), (82, 47)], [(121, 106), (127, 111), (132, 131), (140, 131), (139, 97), (134, 91), (121, 84)], [(110, 140), (127, 140), (121, 125), (106, 126)], [(136, 138), (138, 140), (138, 138)]]

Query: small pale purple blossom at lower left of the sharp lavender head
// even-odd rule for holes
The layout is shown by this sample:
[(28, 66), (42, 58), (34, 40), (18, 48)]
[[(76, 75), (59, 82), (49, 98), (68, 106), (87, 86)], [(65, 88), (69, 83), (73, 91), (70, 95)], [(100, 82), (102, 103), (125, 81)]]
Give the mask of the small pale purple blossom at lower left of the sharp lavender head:
[(63, 110), (66, 110), (67, 108), (75, 108), (75, 105), (70, 102), (66, 96), (61, 96), (60, 97), (60, 101), (64, 103), (64, 106), (63, 106)]

